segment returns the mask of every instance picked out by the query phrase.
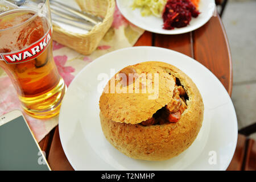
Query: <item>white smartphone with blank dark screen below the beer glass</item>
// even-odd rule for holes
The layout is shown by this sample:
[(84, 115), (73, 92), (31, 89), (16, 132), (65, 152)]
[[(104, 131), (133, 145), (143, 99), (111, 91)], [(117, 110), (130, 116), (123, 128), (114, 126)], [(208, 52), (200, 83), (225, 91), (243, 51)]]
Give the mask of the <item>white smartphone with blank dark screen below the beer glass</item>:
[(0, 170), (50, 171), (43, 153), (21, 111), (0, 116)]

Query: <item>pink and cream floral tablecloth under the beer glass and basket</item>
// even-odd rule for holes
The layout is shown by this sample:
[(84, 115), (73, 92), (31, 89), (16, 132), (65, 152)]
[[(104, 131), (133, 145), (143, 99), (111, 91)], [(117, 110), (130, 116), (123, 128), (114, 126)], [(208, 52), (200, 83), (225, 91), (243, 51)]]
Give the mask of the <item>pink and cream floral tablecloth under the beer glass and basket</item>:
[[(53, 59), (60, 75), (64, 78), (67, 86), (69, 86), (77, 73), (87, 64), (105, 53), (133, 46), (143, 32), (144, 30), (123, 18), (117, 7), (115, 7), (112, 27), (101, 40), (96, 51), (89, 56), (84, 56), (68, 47), (53, 42)], [(0, 115), (15, 109), (22, 110), (16, 90), (10, 78), (0, 68)], [(58, 124), (58, 117), (40, 120), (30, 117), (26, 113), (23, 114), (38, 142)]]

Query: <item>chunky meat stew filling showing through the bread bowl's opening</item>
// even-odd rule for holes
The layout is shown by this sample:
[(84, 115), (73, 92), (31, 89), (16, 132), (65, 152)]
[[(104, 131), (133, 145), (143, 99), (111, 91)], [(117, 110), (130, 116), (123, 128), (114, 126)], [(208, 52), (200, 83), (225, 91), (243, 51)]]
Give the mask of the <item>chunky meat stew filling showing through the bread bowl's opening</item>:
[(179, 79), (176, 77), (174, 79), (175, 88), (172, 101), (156, 111), (152, 118), (141, 122), (141, 125), (162, 125), (163, 123), (176, 123), (180, 120), (181, 114), (187, 109), (186, 100), (188, 100), (188, 96)]

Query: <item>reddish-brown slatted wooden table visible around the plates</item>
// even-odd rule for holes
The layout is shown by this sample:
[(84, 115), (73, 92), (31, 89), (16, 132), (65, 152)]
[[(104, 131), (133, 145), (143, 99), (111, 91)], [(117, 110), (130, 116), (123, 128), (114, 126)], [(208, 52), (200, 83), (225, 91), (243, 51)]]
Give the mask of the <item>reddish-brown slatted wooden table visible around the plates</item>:
[[(169, 48), (205, 65), (232, 93), (232, 59), (228, 39), (219, 16), (212, 17), (203, 27), (181, 35), (159, 35), (144, 32), (135, 46), (157, 46)], [(73, 170), (69, 164), (59, 138), (58, 126), (40, 143), (52, 170)]]

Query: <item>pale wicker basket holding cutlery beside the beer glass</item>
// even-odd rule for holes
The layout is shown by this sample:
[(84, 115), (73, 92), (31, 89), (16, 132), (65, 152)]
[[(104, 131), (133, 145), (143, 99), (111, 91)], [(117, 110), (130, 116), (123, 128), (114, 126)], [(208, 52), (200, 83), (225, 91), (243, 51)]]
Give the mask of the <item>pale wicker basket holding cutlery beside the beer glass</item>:
[(87, 34), (76, 34), (53, 24), (53, 40), (75, 49), (83, 55), (92, 53), (109, 30), (115, 10), (114, 0), (76, 0), (82, 11), (104, 17), (102, 23), (94, 26)]

